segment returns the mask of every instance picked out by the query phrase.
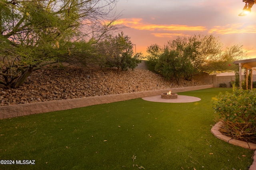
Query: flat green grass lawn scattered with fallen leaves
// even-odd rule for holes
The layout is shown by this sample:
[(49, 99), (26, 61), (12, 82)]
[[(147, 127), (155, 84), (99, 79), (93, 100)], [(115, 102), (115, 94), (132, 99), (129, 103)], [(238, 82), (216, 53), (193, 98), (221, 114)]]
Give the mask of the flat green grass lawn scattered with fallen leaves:
[(246, 170), (253, 151), (211, 134), (212, 98), (231, 88), (180, 95), (192, 103), (140, 99), (0, 120), (0, 169)]

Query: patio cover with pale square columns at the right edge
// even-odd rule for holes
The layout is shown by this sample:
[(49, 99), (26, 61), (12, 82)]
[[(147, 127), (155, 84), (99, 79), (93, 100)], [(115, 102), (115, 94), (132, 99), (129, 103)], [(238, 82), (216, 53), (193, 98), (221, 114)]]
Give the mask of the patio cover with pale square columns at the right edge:
[[(246, 89), (248, 89), (248, 70), (256, 70), (256, 58), (234, 61), (234, 64), (239, 66), (239, 86), (242, 88), (242, 67), (246, 68)], [(252, 75), (251, 75), (252, 89)]]

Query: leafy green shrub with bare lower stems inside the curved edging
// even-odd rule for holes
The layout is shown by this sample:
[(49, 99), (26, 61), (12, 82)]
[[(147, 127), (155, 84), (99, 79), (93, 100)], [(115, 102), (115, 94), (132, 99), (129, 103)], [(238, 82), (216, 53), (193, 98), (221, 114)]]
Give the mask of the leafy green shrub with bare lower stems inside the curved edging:
[(213, 101), (220, 132), (242, 141), (256, 143), (256, 90), (220, 93)]

